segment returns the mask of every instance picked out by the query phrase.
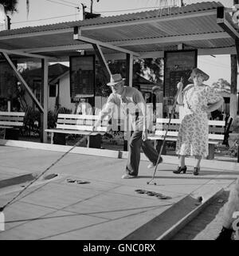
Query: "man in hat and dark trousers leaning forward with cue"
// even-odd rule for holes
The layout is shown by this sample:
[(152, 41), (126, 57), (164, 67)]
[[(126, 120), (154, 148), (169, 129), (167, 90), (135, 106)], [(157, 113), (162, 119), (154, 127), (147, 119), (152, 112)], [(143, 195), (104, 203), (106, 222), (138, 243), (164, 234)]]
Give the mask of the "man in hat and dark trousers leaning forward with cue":
[[(120, 74), (112, 75), (111, 81), (107, 85), (111, 86), (112, 93), (108, 97), (108, 101), (102, 109), (99, 120), (96, 121), (93, 130), (96, 129), (105, 116), (108, 116), (109, 111), (112, 111), (114, 106), (121, 108), (124, 115), (130, 115), (134, 132), (129, 141), (126, 173), (122, 176), (122, 179), (136, 178), (139, 173), (141, 146), (144, 154), (151, 161), (148, 168), (155, 167), (158, 160), (158, 153), (150, 140), (147, 140), (146, 104), (139, 90), (124, 86), (124, 79)], [(162, 161), (161, 158), (159, 163)]]

